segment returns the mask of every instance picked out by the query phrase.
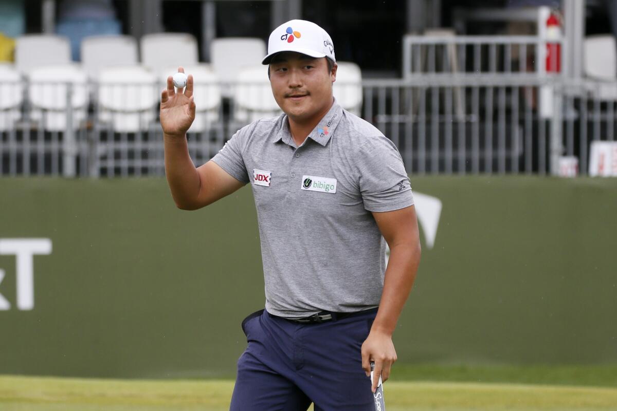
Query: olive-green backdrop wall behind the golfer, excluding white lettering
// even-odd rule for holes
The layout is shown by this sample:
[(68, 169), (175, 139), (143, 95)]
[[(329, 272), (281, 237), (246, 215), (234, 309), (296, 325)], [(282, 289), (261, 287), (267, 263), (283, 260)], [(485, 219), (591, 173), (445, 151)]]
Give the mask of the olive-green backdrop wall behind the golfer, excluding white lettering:
[[(615, 179), (412, 186), (443, 209), (394, 336), (400, 361), (617, 362)], [(15, 256), (0, 255), (0, 373), (233, 375), (240, 322), (263, 307), (258, 236), (249, 187), (189, 212), (164, 179), (0, 179), (0, 241), (52, 242), (33, 258), (31, 310)]]

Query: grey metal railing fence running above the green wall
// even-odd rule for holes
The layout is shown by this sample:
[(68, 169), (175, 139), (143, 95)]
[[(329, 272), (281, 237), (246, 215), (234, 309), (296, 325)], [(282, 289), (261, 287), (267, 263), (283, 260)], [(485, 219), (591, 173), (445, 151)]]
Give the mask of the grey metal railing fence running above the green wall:
[[(617, 83), (573, 81), (530, 65), (545, 59), (537, 38), (408, 36), (404, 47), (404, 78), (365, 79), (361, 89), (337, 81), (334, 90), (393, 140), (410, 173), (555, 174), (564, 155), (577, 157), (586, 173), (590, 142), (615, 139)], [(267, 83), (244, 84), (244, 91), (223, 86), (234, 90), (231, 97), (207, 105), (188, 133), (196, 165), (242, 125), (277, 112)], [(48, 84), (43, 94), (57, 100), (48, 105), (38, 103), (33, 87), (0, 83), (1, 175), (165, 173), (156, 103), (163, 84), (107, 90), (110, 104), (101, 84)], [(133, 104), (135, 95), (149, 103)], [(252, 104), (242, 96), (253, 96)]]

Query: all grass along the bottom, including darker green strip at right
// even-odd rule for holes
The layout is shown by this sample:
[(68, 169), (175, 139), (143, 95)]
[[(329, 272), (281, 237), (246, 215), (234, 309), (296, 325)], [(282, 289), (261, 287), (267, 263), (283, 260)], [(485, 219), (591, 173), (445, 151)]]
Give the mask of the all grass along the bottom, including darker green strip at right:
[[(232, 380), (0, 376), (0, 410), (219, 411), (232, 390)], [(384, 391), (388, 411), (615, 411), (617, 366), (397, 364)]]

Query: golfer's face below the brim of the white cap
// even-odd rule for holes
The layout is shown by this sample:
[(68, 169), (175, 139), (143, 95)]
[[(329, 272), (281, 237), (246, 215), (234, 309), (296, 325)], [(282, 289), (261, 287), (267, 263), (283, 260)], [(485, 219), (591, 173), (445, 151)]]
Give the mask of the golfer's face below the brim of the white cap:
[(276, 103), (294, 121), (323, 116), (332, 105), (336, 64), (328, 70), (326, 57), (281, 52), (270, 62), (270, 84)]

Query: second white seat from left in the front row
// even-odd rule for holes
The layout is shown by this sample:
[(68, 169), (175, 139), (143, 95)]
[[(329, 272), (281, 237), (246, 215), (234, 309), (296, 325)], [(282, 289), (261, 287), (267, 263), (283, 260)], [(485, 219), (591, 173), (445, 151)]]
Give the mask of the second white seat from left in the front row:
[[(31, 106), (30, 118), (40, 121), (44, 129), (76, 129), (81, 121), (85, 120), (88, 109), (86, 73), (75, 64), (51, 65), (30, 70), (28, 99)], [(72, 124), (68, 124), (69, 107), (72, 110)]]

